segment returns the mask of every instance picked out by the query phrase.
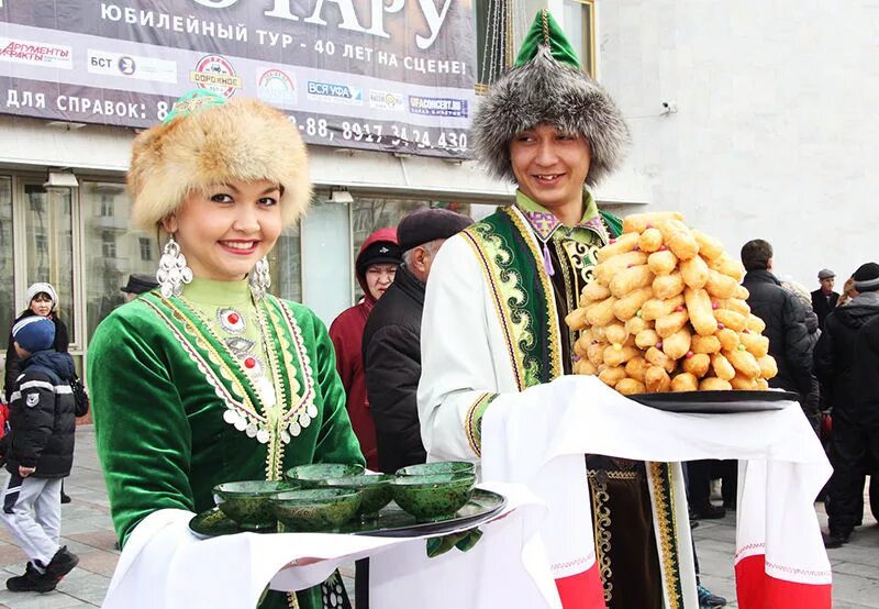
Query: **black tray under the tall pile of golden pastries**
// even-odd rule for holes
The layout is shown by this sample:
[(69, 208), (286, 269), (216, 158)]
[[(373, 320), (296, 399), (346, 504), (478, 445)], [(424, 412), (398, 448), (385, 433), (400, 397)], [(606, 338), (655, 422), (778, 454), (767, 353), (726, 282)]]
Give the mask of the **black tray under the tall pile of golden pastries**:
[(730, 414), (733, 412), (760, 412), (781, 410), (783, 402), (797, 401), (790, 391), (678, 391), (666, 394), (635, 394), (627, 396), (644, 406), (668, 412), (701, 414)]

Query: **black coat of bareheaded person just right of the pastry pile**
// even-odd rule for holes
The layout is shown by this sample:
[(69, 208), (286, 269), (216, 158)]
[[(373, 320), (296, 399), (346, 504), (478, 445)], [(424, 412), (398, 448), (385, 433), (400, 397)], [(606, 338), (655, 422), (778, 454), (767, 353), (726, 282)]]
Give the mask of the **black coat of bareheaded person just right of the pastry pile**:
[(769, 355), (778, 364), (778, 375), (769, 385), (800, 394), (805, 405), (813, 379), (805, 307), (769, 270), (748, 272), (742, 285), (750, 295), (750, 311), (766, 323)]

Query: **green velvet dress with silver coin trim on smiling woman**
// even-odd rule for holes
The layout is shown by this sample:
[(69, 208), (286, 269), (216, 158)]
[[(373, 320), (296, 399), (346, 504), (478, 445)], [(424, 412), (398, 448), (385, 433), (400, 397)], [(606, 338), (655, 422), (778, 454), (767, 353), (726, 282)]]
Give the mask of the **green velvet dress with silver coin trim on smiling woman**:
[[(365, 463), (323, 323), (302, 304), (254, 302), (246, 280), (194, 279), (182, 297), (116, 309), (91, 341), (88, 387), (121, 544), (154, 511), (210, 509), (216, 484)], [(322, 605), (315, 587), (260, 608)]]

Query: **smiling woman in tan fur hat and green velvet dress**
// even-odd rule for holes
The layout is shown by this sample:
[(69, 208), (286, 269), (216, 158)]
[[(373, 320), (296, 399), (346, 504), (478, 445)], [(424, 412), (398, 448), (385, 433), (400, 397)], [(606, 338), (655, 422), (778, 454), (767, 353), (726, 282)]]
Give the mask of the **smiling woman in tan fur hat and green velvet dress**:
[[(110, 314), (88, 353), (120, 544), (145, 521), (210, 509), (223, 481), (363, 464), (324, 324), (268, 294), (266, 255), (311, 197), (296, 125), (254, 100), (190, 93), (137, 136), (127, 182), (134, 221), (167, 242), (159, 288)], [(321, 607), (320, 588), (260, 607)]]

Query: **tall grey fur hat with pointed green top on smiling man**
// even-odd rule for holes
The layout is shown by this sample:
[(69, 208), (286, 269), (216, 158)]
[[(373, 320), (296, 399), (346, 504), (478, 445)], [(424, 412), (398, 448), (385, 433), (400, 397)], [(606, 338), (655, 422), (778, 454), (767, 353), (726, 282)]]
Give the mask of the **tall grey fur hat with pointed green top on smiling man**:
[(515, 65), (492, 85), (474, 118), (477, 156), (499, 178), (515, 181), (510, 142), (539, 124), (589, 142), (586, 182), (594, 186), (622, 163), (628, 128), (610, 95), (580, 68), (577, 55), (546, 9), (534, 19)]

